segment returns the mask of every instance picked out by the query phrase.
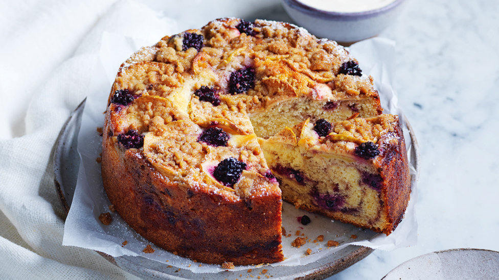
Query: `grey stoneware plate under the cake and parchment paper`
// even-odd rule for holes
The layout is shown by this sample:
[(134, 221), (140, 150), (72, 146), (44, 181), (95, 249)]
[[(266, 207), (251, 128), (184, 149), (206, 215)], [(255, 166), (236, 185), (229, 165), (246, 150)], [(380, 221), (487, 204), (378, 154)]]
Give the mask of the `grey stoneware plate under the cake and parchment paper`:
[[(73, 195), (75, 193), (76, 181), (78, 178), (78, 168), (80, 157), (77, 151), (78, 133), (80, 130), (81, 116), (83, 113), (85, 100), (76, 108), (73, 114), (67, 119), (62, 127), (59, 137), (55, 143), (54, 152), (54, 182), (56, 191), (65, 214), (70, 210)], [(419, 152), (418, 144), (409, 122), (406, 121), (411, 136), (411, 163), (417, 171), (419, 179)], [(319, 261), (303, 266), (277, 266), (269, 269), (266, 275), (271, 279), (324, 279), (338, 272), (345, 270), (356, 262), (366, 258), (374, 249), (364, 246), (349, 245), (338, 252)], [(144, 279), (235, 279), (250, 277), (250, 273), (245, 271), (223, 271), (218, 273), (193, 273), (189, 270), (179, 270), (176, 267), (168, 267), (167, 264), (152, 261), (143, 257), (111, 257), (106, 253), (97, 251), (104, 259), (119, 268)], [(267, 267), (268, 268), (268, 267)], [(265, 267), (254, 268), (252, 275), (259, 273)], [(263, 276), (263, 275), (262, 275)], [(256, 277), (256, 276), (254, 276)], [(263, 277), (266, 278), (266, 277)], [(262, 278), (262, 279), (263, 279)]]

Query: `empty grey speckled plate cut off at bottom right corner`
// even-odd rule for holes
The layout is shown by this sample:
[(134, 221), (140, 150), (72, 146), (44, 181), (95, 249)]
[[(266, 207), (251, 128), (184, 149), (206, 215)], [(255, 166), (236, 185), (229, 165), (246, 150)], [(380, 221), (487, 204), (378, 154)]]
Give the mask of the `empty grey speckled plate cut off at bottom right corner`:
[(394, 268), (382, 280), (499, 279), (499, 252), (449, 249), (423, 254)]

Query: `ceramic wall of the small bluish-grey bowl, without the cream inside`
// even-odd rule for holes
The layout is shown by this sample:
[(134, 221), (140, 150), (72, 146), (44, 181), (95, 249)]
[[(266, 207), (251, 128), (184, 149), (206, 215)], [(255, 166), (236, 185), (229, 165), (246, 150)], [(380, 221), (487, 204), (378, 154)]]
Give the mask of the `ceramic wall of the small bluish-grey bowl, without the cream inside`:
[(404, 0), (365, 12), (328, 12), (297, 0), (281, 0), (284, 10), (299, 26), (320, 38), (353, 43), (378, 35), (402, 10)]

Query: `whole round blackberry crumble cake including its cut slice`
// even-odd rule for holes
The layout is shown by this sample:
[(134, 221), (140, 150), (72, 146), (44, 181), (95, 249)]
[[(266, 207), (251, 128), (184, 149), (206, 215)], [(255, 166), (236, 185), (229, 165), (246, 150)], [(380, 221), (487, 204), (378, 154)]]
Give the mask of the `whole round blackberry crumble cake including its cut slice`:
[[(140, 235), (205, 263), (282, 261), (282, 199), (390, 234), (410, 183), (398, 119), (381, 112), (372, 77), (336, 42), (288, 23), (217, 19), (122, 64), (105, 115), (104, 188)], [(319, 136), (312, 123), (334, 129)], [(379, 155), (352, 154), (368, 142)], [(304, 168), (279, 152), (334, 165)], [(356, 185), (320, 179), (350, 167)]]

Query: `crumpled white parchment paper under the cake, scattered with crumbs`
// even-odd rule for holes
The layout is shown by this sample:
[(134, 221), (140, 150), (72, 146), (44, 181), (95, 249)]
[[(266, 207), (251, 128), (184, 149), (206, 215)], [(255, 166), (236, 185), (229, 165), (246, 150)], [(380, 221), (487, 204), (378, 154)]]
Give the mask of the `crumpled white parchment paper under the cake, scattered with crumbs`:
[[(151, 38), (152, 42), (159, 39)], [(174, 256), (172, 253), (153, 245), (135, 233), (118, 213), (111, 213), (113, 221), (109, 225), (102, 224), (98, 219), (101, 213), (110, 212), (108, 209), (110, 202), (102, 186), (101, 166), (96, 161), (102, 152), (102, 137), (99, 136), (97, 128), (103, 126), (103, 112), (106, 110), (110, 88), (120, 64), (137, 51), (140, 46), (150, 44), (149, 40), (138, 40), (106, 32), (103, 34), (100, 59), (93, 73), (78, 136), (78, 152), (81, 163), (71, 210), (65, 221), (62, 244), (98, 250), (113, 257), (142, 256), (165, 265), (189, 269), (196, 273), (223, 271), (224, 269), (219, 265), (201, 264), (199, 266), (199, 263)], [(369, 39), (352, 45), (349, 50), (360, 62), (362, 73), (373, 75), (375, 88), (379, 91), (385, 113), (402, 116), (403, 113), (397, 107), (397, 97), (392, 88), (394, 42), (380, 38)], [(400, 120), (403, 121), (403, 117), (400, 117)], [(405, 143), (409, 150), (411, 140), (405, 124), (403, 126)], [(410, 155), (410, 152), (408, 154)], [(384, 234), (377, 234), (370, 230), (362, 230), (353, 225), (333, 221), (318, 214), (295, 209), (289, 203), (283, 202), (283, 227), (286, 230), (286, 236), (289, 234), (291, 236), (283, 237), (282, 241), (286, 259), (281, 263), (271, 264), (271, 266), (305, 265), (324, 258), (349, 244), (382, 250), (415, 245), (417, 242), (415, 217), (417, 182), (416, 171), (413, 167), (411, 167), (411, 173), (412, 193), (409, 207), (403, 221), (388, 237)], [(308, 215), (311, 218), (310, 224), (304, 226), (298, 222), (297, 217), (303, 215)], [(297, 231), (300, 231), (300, 237), (307, 237), (307, 240), (310, 240), (300, 248), (290, 246), (291, 242), (298, 237)], [(324, 236), (324, 241), (313, 242), (317, 240), (319, 235)], [(353, 235), (355, 239), (352, 238)], [(338, 242), (339, 246), (328, 248), (328, 240)], [(124, 241), (127, 241), (126, 245), (122, 244)], [(143, 252), (148, 244), (154, 249), (154, 253)], [(312, 250), (309, 255), (306, 254), (308, 248)], [(237, 266), (234, 270), (251, 267)]]

